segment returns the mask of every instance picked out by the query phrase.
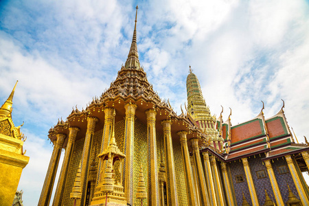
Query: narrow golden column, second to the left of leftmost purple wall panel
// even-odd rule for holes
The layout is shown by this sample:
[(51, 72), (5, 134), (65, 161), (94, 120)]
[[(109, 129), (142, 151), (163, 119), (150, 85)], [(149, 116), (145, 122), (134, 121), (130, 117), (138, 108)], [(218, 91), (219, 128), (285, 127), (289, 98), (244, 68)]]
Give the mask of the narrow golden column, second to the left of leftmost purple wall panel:
[(214, 155), (211, 155), (210, 157), (210, 164), (211, 164), (211, 170), (212, 170), (212, 176), (214, 177), (214, 185), (216, 188), (216, 198), (218, 205), (225, 205), (224, 197), (223, 197), (223, 191), (222, 191), (222, 185), (220, 182), (220, 174), (218, 172), (218, 165), (216, 163), (216, 157)]

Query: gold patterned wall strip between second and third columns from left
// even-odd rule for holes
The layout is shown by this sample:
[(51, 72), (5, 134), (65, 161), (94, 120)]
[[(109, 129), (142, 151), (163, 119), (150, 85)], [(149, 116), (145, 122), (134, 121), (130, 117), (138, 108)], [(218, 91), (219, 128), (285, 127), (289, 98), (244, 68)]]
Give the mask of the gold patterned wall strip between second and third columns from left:
[(78, 139), (75, 142), (73, 148), (73, 154), (69, 165), (69, 174), (67, 175), (67, 181), (65, 184), (65, 192), (62, 205), (73, 205), (70, 198), (70, 193), (72, 192), (73, 183), (76, 178), (76, 173), (78, 170), (78, 165), (80, 164), (80, 159), (82, 158), (82, 148), (84, 147), (84, 138)]

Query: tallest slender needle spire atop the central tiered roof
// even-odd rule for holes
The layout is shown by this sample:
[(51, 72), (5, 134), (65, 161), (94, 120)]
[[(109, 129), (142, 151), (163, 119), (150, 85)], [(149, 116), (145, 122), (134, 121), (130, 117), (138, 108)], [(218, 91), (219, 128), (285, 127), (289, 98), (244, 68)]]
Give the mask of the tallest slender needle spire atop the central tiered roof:
[(126, 59), (126, 64), (124, 67), (126, 69), (140, 69), (139, 65), (139, 54), (137, 52), (137, 35), (136, 35), (136, 23), (137, 23), (137, 10), (138, 6), (136, 6), (136, 14), (135, 14), (135, 27), (133, 32), (133, 39), (130, 47), (130, 52), (128, 54), (128, 58)]

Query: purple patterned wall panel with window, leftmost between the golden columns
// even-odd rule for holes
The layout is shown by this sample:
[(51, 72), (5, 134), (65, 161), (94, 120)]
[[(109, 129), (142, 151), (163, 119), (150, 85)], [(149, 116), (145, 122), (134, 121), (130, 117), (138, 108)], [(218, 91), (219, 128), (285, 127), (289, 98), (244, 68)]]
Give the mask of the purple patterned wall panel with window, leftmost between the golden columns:
[[(242, 192), (244, 192), (244, 196), (247, 198), (247, 201), (250, 205), (252, 205), (251, 197), (249, 193), (249, 187), (247, 184), (246, 174), (244, 173), (244, 166), (242, 165), (242, 161), (232, 161), (229, 163), (231, 170), (231, 177), (233, 181), (233, 187), (235, 190), (237, 205), (242, 205)], [(242, 174), (244, 176), (244, 182), (236, 183), (236, 175)]]

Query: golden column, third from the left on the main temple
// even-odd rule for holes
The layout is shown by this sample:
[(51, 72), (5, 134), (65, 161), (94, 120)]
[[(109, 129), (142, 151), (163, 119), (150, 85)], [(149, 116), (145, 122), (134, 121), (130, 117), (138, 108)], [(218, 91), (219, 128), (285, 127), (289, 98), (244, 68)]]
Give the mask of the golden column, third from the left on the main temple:
[(81, 163), (81, 179), (80, 185), (82, 187), (82, 199), (80, 201), (80, 205), (84, 205), (85, 195), (87, 190), (88, 183), (88, 172), (89, 172), (89, 162), (90, 162), (90, 154), (91, 154), (91, 146), (92, 140), (95, 130), (95, 124), (98, 122), (97, 117), (87, 117), (87, 132), (86, 137), (84, 139), (84, 148), (82, 149), (82, 163)]

